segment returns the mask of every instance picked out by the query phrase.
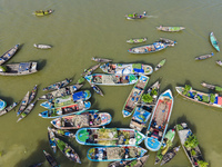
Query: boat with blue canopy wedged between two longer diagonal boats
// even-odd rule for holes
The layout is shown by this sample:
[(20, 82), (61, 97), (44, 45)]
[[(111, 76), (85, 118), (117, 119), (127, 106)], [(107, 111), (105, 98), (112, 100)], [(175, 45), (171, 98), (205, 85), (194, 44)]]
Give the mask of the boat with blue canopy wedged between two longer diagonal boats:
[(147, 94), (152, 97), (152, 101), (151, 102), (142, 101), (141, 106), (138, 106), (135, 108), (135, 111), (134, 111), (131, 122), (130, 122), (131, 128), (141, 131), (147, 126), (148, 119), (150, 118), (150, 116), (152, 114), (153, 106), (157, 102), (159, 90), (160, 90), (159, 81), (154, 82), (148, 89)]

